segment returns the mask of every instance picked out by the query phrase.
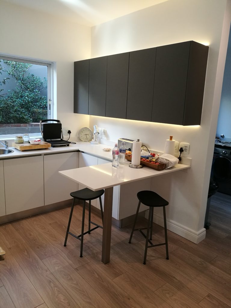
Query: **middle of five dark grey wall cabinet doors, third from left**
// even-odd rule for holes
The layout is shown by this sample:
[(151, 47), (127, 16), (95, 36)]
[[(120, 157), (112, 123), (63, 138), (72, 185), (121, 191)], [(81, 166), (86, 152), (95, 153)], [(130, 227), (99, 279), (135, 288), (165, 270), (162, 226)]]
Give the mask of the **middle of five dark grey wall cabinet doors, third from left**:
[(107, 57), (106, 116), (126, 119), (129, 52)]

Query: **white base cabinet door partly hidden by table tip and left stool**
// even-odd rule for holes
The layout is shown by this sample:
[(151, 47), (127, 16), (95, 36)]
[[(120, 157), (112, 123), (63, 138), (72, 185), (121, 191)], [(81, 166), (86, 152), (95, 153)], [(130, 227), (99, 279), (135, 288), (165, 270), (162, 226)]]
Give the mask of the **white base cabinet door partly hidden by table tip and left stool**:
[(59, 171), (78, 168), (78, 152), (44, 156), (44, 203), (53, 204), (71, 199), (70, 193), (78, 190), (78, 183), (59, 174)]

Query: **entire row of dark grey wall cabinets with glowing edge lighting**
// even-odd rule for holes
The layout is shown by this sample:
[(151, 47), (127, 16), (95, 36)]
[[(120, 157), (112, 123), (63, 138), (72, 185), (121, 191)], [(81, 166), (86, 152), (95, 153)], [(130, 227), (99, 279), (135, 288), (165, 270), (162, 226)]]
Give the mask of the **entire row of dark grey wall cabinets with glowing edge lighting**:
[(75, 62), (74, 112), (200, 125), (208, 51), (189, 41)]

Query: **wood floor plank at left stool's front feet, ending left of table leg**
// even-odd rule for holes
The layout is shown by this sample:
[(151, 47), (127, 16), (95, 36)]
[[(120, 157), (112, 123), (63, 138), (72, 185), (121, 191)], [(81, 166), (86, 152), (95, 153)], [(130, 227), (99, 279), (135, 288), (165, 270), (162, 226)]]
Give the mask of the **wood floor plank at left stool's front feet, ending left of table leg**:
[[(87, 257), (80, 258), (80, 246), (74, 247), (70, 242), (64, 247), (64, 237), (57, 233), (46, 221), (43, 216), (31, 217), (28, 219), (31, 228), (36, 229), (37, 232), (44, 237), (45, 240), (52, 245), (52, 247), (73, 267), (90, 262)], [(78, 241), (78, 240), (76, 240)]]

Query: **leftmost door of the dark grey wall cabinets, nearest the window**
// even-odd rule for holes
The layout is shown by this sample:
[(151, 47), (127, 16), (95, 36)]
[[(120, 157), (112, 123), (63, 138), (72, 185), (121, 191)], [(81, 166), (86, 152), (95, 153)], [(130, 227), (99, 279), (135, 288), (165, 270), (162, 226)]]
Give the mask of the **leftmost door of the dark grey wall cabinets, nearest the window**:
[(74, 63), (74, 113), (88, 114), (89, 59)]

